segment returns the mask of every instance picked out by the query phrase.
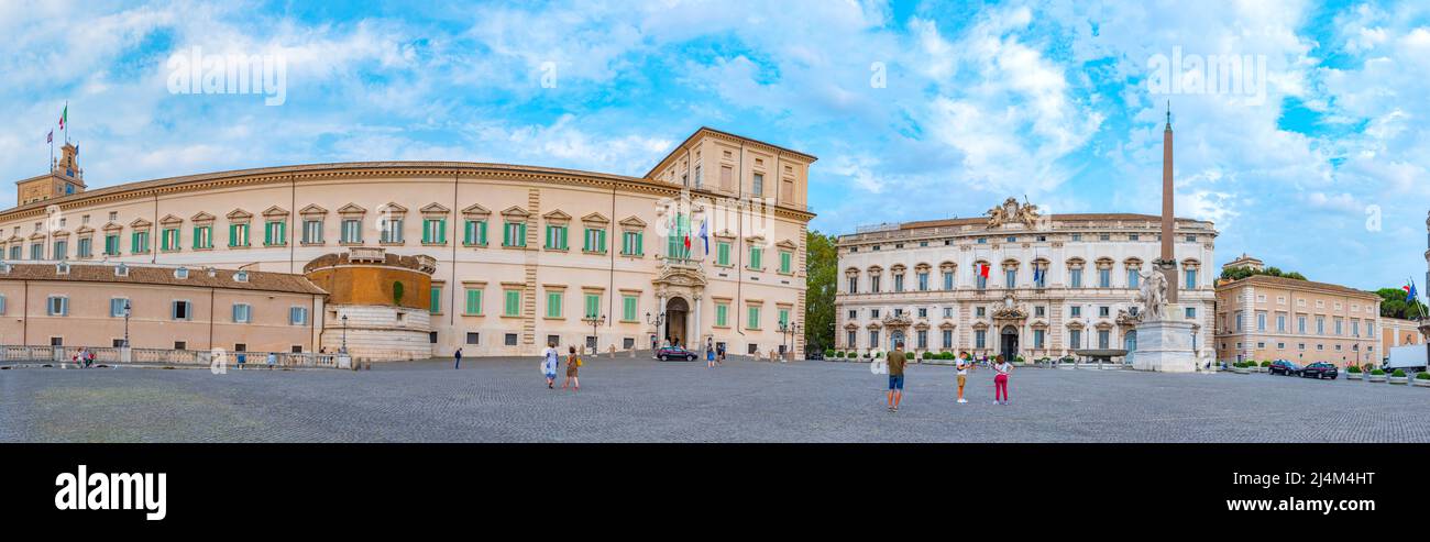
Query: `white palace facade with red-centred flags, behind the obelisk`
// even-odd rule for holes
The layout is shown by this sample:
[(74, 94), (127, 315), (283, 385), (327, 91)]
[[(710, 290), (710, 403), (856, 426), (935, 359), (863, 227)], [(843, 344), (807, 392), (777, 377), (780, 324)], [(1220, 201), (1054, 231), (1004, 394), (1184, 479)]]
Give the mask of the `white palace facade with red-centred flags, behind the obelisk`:
[[(835, 342), (861, 353), (904, 343), (1030, 360), (1075, 349), (1135, 355), (1135, 296), (1160, 232), (1157, 215), (1042, 216), (1012, 197), (982, 217), (861, 227), (838, 242)], [(1216, 237), (1210, 222), (1175, 220), (1174, 310), (1198, 330), (1213, 322)], [(1204, 339), (1198, 353), (1210, 355)]]

